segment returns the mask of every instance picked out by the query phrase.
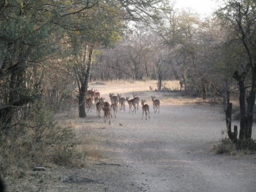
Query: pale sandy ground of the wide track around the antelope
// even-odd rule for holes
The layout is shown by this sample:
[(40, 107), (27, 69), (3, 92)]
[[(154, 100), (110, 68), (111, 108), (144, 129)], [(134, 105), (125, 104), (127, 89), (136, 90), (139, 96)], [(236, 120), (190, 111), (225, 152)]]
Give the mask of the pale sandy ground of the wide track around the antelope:
[[(96, 119), (93, 109), (86, 119), (77, 119), (81, 126), (76, 133), (94, 137), (101, 158), (84, 168), (52, 168), (44, 173), (51, 174), (50, 180), (26, 186), (26, 191), (255, 192), (255, 155), (216, 155), (211, 150), (226, 129), (220, 105), (174, 102), (174, 93), (152, 92), (146, 85), (94, 87), (106, 101), (110, 92), (137, 93), (150, 106), (150, 120), (142, 120), (142, 105), (129, 113), (126, 104), (111, 124)], [(153, 111), (152, 94), (160, 99), (160, 113)], [(256, 127), (252, 132), (255, 139)], [(70, 178), (75, 182), (66, 182)]]

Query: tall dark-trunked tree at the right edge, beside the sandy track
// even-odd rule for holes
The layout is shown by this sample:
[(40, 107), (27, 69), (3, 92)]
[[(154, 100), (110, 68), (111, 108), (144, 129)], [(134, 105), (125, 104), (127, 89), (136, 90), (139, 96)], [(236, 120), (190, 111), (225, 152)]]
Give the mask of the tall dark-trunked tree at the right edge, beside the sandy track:
[[(230, 30), (232, 44), (243, 46), (240, 65), (233, 72), (239, 87), (240, 132), (239, 139), (250, 139), (252, 135), (253, 109), (256, 89), (256, 2), (252, 0), (227, 1), (217, 12), (223, 28)], [(236, 130), (231, 132), (232, 103), (227, 101), (226, 121), (228, 136), (236, 142)], [(229, 112), (229, 113), (228, 113)]]

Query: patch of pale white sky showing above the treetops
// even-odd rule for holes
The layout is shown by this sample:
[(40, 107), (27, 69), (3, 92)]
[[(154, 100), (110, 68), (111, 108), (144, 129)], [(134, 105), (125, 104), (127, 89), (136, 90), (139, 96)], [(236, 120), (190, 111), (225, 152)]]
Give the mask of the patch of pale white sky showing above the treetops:
[(216, 0), (175, 0), (172, 2), (175, 2), (175, 8), (190, 8), (201, 14), (202, 17), (210, 16), (210, 14), (218, 8)]

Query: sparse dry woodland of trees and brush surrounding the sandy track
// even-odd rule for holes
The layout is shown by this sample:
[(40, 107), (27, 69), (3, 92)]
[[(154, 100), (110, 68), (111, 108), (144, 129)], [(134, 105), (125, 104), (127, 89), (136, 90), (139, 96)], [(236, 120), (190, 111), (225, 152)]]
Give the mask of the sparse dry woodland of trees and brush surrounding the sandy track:
[(184, 94), (221, 98), (230, 140), (252, 139), (255, 10), (228, 0), (202, 19), (167, 0), (0, 1), (0, 172), (76, 156), (79, 141), (55, 118), (74, 106), (86, 118), (90, 81), (157, 80), (153, 90), (171, 91), (164, 81), (178, 80)]

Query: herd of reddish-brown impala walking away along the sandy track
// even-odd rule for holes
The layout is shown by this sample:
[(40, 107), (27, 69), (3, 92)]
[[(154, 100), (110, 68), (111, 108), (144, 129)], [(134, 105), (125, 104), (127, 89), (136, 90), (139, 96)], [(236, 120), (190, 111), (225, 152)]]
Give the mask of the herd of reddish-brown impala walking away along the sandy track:
[[(130, 99), (130, 97), (122, 97), (122, 94), (117, 93), (117, 96), (114, 95), (114, 93), (109, 93), (111, 105), (108, 102), (104, 102), (105, 97), (100, 97), (100, 92), (96, 92), (97, 90), (91, 89), (87, 91), (87, 98), (86, 98), (86, 109), (87, 112), (92, 112), (92, 103), (94, 101), (94, 107), (96, 107), (96, 117), (100, 118), (100, 111), (102, 110), (104, 112), (104, 122), (109, 120), (110, 122), (110, 116), (112, 117), (112, 109), (114, 111), (114, 116), (116, 117), (116, 113), (118, 111), (118, 108), (120, 111), (125, 111), (125, 103), (127, 101), (129, 105), (129, 113), (132, 111), (132, 113), (135, 111), (136, 113), (136, 108), (137, 111), (139, 109), (139, 102), (140, 98), (136, 97), (137, 94), (132, 93), (133, 99)], [(151, 96), (151, 99), (153, 101), (153, 109), (154, 113), (157, 112), (159, 113), (159, 106), (160, 106), (160, 101), (158, 99), (155, 99), (156, 97)], [(142, 105), (142, 119), (144, 116), (144, 112), (146, 115), (146, 120), (147, 116), (148, 119), (150, 118), (149, 114), (149, 105), (144, 104), (146, 100), (141, 100), (141, 105)], [(133, 110), (132, 110), (133, 106)]]

